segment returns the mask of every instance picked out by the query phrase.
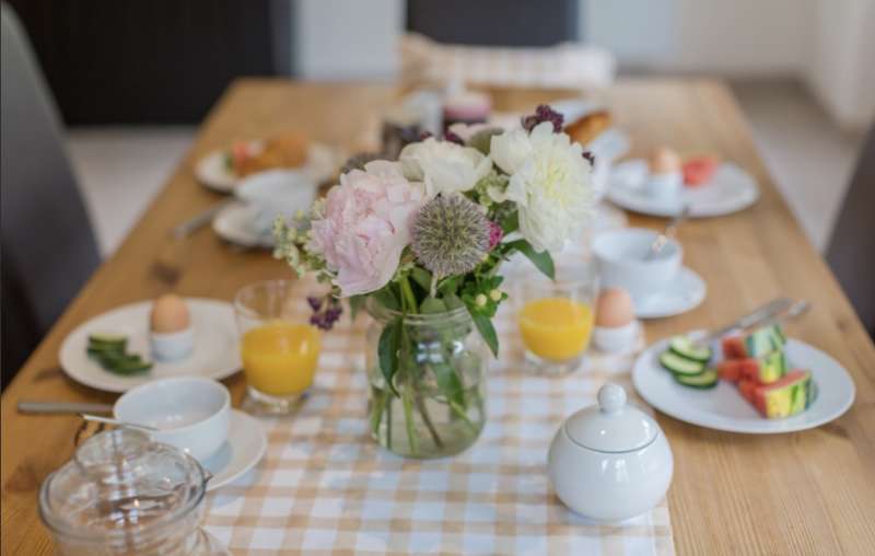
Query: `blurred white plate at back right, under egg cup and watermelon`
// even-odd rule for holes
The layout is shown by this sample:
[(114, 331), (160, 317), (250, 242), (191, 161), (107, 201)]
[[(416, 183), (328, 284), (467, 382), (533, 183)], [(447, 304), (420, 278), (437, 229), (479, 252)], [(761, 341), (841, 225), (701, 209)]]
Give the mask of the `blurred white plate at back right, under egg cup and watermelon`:
[(616, 164), (610, 175), (608, 199), (627, 210), (654, 217), (673, 217), (684, 205), (689, 205), (690, 217), (708, 218), (746, 209), (759, 198), (754, 177), (732, 162), (722, 163), (707, 184), (685, 186), (680, 197), (670, 200), (654, 199), (644, 193), (646, 175), (648, 163), (641, 159)]

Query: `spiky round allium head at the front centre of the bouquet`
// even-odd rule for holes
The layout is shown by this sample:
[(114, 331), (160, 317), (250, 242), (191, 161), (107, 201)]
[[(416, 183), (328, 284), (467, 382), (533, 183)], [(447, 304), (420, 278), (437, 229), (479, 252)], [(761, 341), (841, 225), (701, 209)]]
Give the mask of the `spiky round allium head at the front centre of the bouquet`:
[(474, 270), (489, 248), (489, 219), (462, 195), (438, 195), (413, 221), (413, 253), (438, 277)]

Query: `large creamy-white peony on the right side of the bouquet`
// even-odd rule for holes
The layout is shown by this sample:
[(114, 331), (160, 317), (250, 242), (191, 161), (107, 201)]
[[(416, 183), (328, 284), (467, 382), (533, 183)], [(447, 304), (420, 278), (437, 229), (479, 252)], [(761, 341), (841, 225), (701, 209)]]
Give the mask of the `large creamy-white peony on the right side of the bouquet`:
[[(581, 234), (590, 217), (592, 167), (582, 155), (583, 148), (565, 134), (555, 134), (549, 121), (538, 124), (530, 135), (522, 134), (528, 143), (524, 158), (517, 158), (526, 150), (521, 138), (498, 143), (509, 147), (504, 154), (510, 155), (502, 162), (515, 167), (506, 196), (516, 202), (520, 232), (532, 246), (539, 252), (560, 251), (567, 240)], [(495, 162), (504, 170), (498, 157)]]

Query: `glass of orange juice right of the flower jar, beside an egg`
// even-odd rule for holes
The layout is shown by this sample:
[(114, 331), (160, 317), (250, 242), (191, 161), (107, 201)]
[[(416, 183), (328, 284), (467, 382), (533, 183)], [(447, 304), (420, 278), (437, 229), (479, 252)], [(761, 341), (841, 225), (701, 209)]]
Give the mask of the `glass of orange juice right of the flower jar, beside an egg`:
[(564, 374), (581, 367), (595, 322), (598, 275), (593, 265), (560, 266), (556, 280), (538, 277), (523, 287), (517, 315), (526, 367)]

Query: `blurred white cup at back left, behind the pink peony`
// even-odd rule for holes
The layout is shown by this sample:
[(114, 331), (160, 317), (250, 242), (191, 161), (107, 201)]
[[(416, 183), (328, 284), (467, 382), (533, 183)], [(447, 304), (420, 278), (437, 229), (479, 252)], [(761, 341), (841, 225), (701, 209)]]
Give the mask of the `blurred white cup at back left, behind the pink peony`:
[(316, 183), (298, 170), (269, 170), (253, 174), (240, 182), (234, 194), (256, 207), (253, 230), (270, 230), (273, 220), (290, 218), (299, 210), (308, 210), (316, 198)]

